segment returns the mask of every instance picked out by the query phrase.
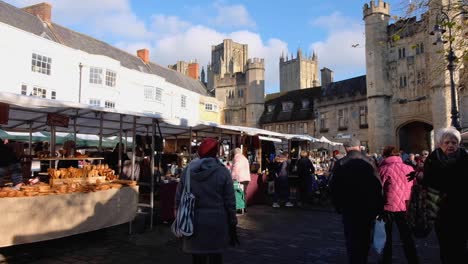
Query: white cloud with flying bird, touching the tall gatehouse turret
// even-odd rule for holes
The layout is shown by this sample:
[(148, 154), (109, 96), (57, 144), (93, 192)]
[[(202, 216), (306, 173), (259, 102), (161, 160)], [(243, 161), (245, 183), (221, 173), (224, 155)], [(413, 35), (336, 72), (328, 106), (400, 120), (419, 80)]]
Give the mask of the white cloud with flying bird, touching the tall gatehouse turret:
[[(358, 69), (365, 69), (364, 26), (335, 12), (318, 17), (311, 23), (328, 30), (324, 41), (314, 42), (310, 48), (318, 54), (320, 68), (327, 67), (335, 75), (355, 77)], [(353, 47), (354, 46), (354, 47)]]

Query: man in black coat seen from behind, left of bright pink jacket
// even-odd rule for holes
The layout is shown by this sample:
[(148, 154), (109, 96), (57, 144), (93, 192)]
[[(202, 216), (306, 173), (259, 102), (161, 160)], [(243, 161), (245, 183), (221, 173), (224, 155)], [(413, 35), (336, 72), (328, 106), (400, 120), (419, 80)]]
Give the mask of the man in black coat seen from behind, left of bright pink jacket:
[(351, 138), (343, 146), (347, 154), (337, 161), (330, 179), (332, 202), (342, 215), (348, 262), (365, 264), (375, 218), (383, 211), (382, 184), (358, 139)]

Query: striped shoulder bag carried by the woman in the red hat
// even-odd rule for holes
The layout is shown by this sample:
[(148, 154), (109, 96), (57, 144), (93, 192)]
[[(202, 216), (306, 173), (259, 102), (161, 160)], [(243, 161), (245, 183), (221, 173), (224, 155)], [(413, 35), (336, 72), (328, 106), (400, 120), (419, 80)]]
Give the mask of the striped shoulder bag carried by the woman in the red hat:
[(179, 208), (177, 208), (177, 215), (171, 226), (172, 233), (178, 238), (193, 235), (194, 215), (195, 195), (190, 192), (190, 166), (187, 166)]

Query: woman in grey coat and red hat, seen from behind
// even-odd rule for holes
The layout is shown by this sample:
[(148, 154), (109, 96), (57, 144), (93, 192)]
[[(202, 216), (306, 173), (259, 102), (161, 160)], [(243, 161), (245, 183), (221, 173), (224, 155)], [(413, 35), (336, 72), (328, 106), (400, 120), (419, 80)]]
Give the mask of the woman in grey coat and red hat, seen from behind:
[[(198, 149), (200, 159), (190, 162), (190, 191), (195, 195), (194, 233), (183, 238), (183, 251), (192, 254), (192, 263), (221, 264), (222, 252), (237, 241), (236, 200), (231, 173), (216, 154), (218, 142), (205, 139)], [(176, 211), (187, 173), (177, 186)]]

